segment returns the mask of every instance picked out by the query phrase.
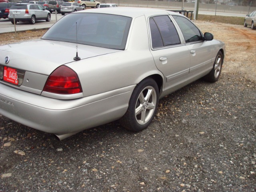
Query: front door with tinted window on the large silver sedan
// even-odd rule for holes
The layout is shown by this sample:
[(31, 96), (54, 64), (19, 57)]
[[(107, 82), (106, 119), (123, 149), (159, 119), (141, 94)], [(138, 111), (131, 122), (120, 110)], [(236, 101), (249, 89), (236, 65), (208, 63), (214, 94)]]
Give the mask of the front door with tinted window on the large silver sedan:
[(202, 32), (188, 19), (182, 16), (172, 16), (177, 22), (186, 47), (190, 52), (190, 78), (200, 75), (203, 71), (212, 68), (212, 44), (204, 41)]

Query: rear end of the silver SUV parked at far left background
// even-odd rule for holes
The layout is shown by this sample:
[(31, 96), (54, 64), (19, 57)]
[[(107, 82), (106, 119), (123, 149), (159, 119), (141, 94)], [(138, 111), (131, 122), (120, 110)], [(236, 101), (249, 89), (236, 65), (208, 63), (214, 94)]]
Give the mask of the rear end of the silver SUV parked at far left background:
[(31, 14), (29, 12), (29, 5), (30, 4), (14, 4), (10, 8), (10, 14), (8, 15), (8, 18), (11, 22), (24, 22), (24, 21), (30, 21)]

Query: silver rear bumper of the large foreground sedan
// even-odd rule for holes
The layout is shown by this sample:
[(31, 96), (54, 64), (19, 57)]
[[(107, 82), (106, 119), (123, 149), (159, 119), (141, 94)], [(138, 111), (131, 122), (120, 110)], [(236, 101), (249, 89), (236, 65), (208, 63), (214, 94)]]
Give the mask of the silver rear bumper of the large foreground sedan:
[(52, 134), (68, 134), (121, 118), (135, 85), (74, 100), (58, 100), (0, 84), (0, 114)]

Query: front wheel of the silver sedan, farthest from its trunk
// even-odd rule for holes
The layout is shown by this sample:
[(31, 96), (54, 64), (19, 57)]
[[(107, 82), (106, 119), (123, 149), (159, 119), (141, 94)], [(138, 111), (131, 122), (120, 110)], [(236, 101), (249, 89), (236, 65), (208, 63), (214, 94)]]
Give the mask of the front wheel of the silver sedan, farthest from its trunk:
[(212, 83), (218, 81), (220, 77), (220, 72), (222, 69), (222, 64), (223, 64), (223, 55), (222, 55), (222, 52), (219, 51), (215, 58), (215, 62), (213, 64), (212, 70), (210, 71), (210, 73), (204, 76), (204, 80)]

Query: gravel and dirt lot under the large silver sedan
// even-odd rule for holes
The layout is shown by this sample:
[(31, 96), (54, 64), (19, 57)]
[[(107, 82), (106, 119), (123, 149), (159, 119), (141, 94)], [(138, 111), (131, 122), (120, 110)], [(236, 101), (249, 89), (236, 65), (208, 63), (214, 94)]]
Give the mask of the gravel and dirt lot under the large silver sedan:
[(0, 115), (0, 191), (256, 191), (256, 30), (195, 23), (226, 43), (218, 82), (163, 98), (140, 133), (113, 122), (58, 141)]

